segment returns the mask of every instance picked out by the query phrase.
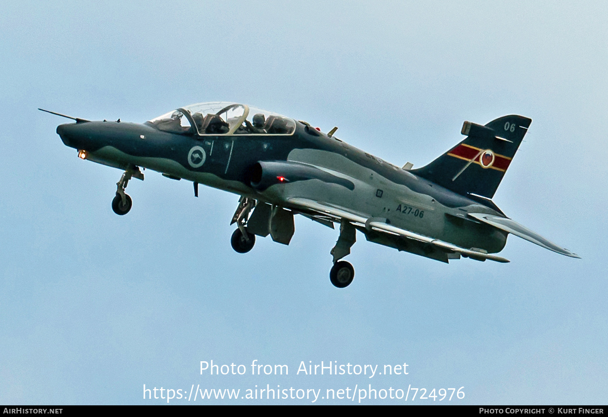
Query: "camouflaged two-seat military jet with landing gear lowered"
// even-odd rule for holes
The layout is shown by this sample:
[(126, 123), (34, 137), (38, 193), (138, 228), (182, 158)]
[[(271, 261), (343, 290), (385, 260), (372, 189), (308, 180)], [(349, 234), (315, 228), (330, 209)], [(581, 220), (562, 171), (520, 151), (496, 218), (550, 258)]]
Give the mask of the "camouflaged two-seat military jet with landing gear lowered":
[[(47, 110), (43, 110), (47, 111)], [(50, 112), (50, 111), (47, 111)], [(578, 258), (508, 218), (492, 202), (531, 119), (506, 115), (486, 125), (465, 122), (466, 136), (425, 167), (397, 167), (322, 133), (302, 120), (239, 103), (185, 106), (143, 124), (75, 120), (57, 127), (78, 156), (123, 170), (112, 209), (133, 204), (125, 188), (140, 168), (240, 195), (232, 247), (246, 253), (255, 236), (289, 244), (294, 215), (334, 228), (330, 280), (344, 288), (354, 269), (342, 260), (356, 230), (368, 241), (448, 262), (460, 257), (509, 262), (494, 255), (511, 233)]]

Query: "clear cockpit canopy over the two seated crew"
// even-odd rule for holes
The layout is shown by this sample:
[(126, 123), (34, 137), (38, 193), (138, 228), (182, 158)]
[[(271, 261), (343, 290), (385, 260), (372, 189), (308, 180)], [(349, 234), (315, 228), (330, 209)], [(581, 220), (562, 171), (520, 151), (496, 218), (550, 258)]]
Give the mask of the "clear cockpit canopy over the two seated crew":
[(168, 133), (203, 135), (291, 135), (289, 117), (228, 102), (198, 103), (170, 111), (146, 122)]

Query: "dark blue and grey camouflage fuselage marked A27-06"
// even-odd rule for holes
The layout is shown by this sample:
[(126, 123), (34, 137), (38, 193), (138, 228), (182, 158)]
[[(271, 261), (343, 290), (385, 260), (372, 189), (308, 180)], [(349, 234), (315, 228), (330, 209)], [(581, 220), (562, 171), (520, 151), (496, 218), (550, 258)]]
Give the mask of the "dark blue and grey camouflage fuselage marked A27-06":
[[(300, 122), (292, 134), (174, 134), (144, 124), (60, 125), (64, 144), (94, 162), (127, 170), (145, 167), (176, 179), (306, 210), (290, 198), (322, 201), (465, 248), (500, 252), (506, 232), (467, 213), (503, 216), (489, 199), (447, 190)], [(370, 241), (447, 261), (449, 253), (400, 236), (358, 227)]]

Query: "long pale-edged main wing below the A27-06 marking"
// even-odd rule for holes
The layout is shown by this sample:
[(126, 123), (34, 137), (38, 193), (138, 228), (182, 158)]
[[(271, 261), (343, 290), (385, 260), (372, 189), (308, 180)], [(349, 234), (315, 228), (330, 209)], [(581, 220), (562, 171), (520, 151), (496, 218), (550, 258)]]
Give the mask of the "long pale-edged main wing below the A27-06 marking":
[(368, 230), (376, 230), (378, 232), (389, 233), (390, 235), (403, 236), (407, 239), (433, 244), (434, 246), (460, 253), (465, 257), (470, 257), (475, 260), (484, 261), (489, 259), (503, 263), (510, 262), (508, 259), (481, 252), (480, 250), (465, 249), (464, 247), (456, 246), (455, 244), (447, 243), (429, 236), (420, 235), (419, 233), (410, 232), (409, 230), (405, 229), (399, 229), (399, 227), (387, 224), (385, 219), (373, 217), (367, 218), (362, 213), (354, 213), (348, 209), (345, 209), (344, 207), (337, 207), (306, 198), (289, 198), (288, 202), (289, 205), (292, 205), (298, 209), (303, 209), (305, 212), (315, 212), (321, 216), (331, 217), (337, 220), (347, 219), (348, 221), (357, 223)]

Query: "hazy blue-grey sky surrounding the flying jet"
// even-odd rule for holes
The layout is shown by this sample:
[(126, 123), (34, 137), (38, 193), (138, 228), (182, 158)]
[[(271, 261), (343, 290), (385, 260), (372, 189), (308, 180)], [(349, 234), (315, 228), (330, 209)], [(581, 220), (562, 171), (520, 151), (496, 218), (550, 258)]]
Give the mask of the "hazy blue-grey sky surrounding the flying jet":
[[(144, 384), (606, 404), (606, 21), (606, 4), (584, 1), (4, 4), (0, 404), (167, 403), (144, 400)], [(66, 120), (36, 110), (144, 122), (216, 100), (339, 126), (415, 167), (460, 141), (463, 120), (530, 117), (494, 202), (582, 259), (510, 236), (509, 264), (447, 265), (358, 235), (353, 284), (336, 289), (336, 230), (297, 218), (289, 246), (260, 238), (240, 255), (237, 195), (202, 187), (196, 199), (153, 171), (116, 216), (120, 171), (78, 159), (55, 133)], [(201, 375), (210, 360), (247, 373)], [(289, 374), (252, 375), (253, 360)], [(408, 374), (309, 376), (302, 361)]]

